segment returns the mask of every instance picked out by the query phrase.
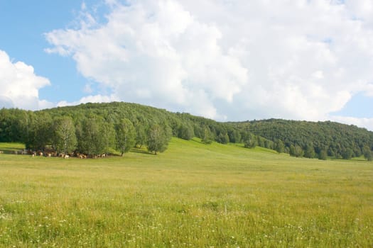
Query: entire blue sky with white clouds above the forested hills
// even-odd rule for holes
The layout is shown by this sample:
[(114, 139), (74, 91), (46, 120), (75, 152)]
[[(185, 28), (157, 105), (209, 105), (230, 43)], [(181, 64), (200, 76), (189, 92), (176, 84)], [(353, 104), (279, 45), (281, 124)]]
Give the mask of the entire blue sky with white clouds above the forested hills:
[(373, 130), (372, 0), (0, 0), (0, 108), (125, 101)]

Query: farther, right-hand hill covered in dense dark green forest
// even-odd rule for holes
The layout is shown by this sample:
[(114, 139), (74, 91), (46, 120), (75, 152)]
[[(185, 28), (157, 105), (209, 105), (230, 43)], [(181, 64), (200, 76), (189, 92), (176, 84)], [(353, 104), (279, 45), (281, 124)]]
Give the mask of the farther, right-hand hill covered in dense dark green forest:
[[(360, 157), (373, 147), (373, 132), (355, 125), (330, 121), (310, 122), (297, 120), (252, 120), (230, 123), (239, 130), (273, 141), (281, 141), (289, 153), (301, 147), (300, 155), (310, 157), (326, 152), (330, 157)], [(302, 154), (303, 152), (303, 154)], [(297, 155), (297, 154), (294, 154)]]

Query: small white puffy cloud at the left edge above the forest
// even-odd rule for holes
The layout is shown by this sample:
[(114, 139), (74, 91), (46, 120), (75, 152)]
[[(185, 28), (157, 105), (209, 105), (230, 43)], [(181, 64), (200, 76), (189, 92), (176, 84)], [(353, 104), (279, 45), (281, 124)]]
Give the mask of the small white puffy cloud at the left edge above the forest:
[(36, 110), (52, 106), (40, 100), (38, 90), (50, 85), (45, 77), (37, 76), (33, 67), (23, 62), (12, 62), (6, 52), (0, 50), (0, 108)]

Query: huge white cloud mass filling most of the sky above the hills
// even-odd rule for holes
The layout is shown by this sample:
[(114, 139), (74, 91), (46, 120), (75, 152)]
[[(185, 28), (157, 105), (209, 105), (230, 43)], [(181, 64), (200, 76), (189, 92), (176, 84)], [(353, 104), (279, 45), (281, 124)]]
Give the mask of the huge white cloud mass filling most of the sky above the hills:
[(372, 94), (371, 1), (107, 1), (46, 33), (122, 101), (210, 118), (322, 120)]

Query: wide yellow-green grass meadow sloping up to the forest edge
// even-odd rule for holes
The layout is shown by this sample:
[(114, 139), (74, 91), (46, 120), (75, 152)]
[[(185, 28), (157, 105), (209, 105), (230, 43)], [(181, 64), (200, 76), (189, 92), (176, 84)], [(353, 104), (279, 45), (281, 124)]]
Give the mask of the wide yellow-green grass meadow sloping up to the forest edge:
[(373, 163), (175, 138), (157, 156), (0, 154), (0, 247), (373, 247)]

